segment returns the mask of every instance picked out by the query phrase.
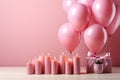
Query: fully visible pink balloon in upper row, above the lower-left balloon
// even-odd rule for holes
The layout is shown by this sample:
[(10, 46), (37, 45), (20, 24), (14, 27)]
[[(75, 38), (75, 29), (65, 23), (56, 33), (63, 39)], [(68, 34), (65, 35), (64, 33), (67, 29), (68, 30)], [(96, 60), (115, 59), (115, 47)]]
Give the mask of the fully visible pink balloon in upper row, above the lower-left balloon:
[(68, 11), (68, 20), (72, 23), (76, 31), (83, 31), (88, 23), (87, 7), (80, 3), (71, 6)]

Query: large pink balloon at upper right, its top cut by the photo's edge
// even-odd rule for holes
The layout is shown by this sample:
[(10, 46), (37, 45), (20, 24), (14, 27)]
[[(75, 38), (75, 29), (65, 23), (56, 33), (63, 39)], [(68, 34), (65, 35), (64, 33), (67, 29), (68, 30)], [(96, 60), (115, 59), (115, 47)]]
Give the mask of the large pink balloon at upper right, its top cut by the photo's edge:
[[(92, 12), (96, 21), (105, 27), (110, 24), (111, 18), (113, 18), (113, 0), (95, 0), (92, 5)], [(115, 16), (115, 14), (114, 14)]]

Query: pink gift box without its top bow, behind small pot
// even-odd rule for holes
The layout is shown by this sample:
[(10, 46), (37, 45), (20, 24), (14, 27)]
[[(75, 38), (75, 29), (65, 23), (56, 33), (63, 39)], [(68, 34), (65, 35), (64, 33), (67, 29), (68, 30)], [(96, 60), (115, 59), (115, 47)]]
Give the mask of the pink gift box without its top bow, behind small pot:
[[(86, 57), (87, 65), (86, 70), (87, 73), (94, 73), (94, 63), (97, 57)], [(99, 57), (103, 59), (103, 73), (111, 73), (112, 72), (112, 58), (111, 57)]]

